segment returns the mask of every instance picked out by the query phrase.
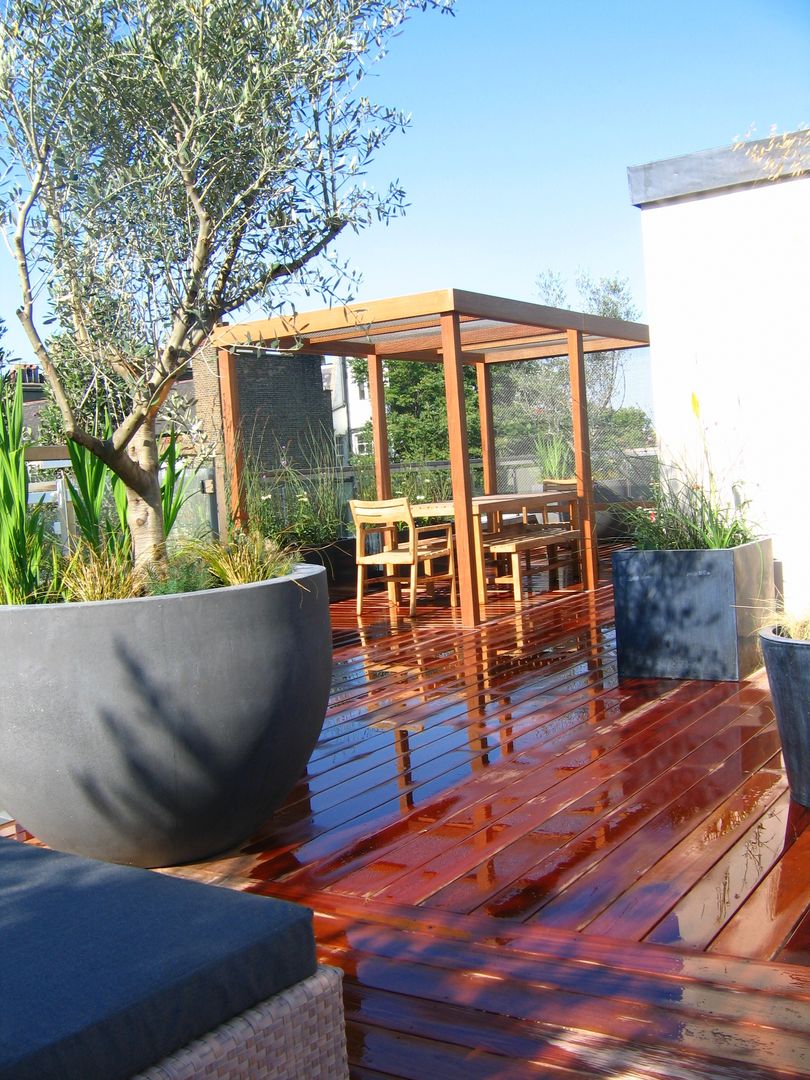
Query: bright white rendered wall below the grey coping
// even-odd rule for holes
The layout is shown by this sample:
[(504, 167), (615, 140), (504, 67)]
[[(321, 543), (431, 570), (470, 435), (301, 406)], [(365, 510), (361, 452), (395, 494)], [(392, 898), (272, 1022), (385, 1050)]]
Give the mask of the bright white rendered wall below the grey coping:
[(810, 178), (649, 205), (642, 228), (662, 460), (705, 474), (705, 436), (810, 608)]

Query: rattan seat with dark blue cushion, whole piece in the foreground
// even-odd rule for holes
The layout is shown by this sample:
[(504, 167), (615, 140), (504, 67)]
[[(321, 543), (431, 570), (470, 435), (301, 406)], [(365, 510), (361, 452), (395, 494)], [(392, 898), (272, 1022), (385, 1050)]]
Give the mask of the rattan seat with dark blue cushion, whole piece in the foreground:
[(296, 904), (0, 839), (0, 1080), (339, 1080)]

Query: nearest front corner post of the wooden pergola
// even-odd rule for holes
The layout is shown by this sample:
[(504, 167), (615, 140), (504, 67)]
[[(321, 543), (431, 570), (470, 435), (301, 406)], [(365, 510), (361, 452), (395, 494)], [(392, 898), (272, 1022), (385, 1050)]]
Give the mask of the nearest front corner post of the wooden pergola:
[(456, 519), (456, 569), (461, 598), (462, 626), (481, 622), (476, 555), (472, 524), (472, 484), (470, 483), (470, 446), (467, 436), (464, 382), (461, 366), (461, 334), (459, 318), (454, 311), (441, 315), (442, 359), (447, 399), (447, 436), (450, 444), (450, 482)]

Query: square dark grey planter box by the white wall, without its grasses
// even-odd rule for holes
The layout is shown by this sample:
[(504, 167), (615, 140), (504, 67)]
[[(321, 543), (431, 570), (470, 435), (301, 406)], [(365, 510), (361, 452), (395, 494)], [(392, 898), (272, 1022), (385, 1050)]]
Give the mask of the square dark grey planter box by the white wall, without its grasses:
[(745, 678), (773, 600), (770, 540), (715, 551), (613, 552), (622, 678)]

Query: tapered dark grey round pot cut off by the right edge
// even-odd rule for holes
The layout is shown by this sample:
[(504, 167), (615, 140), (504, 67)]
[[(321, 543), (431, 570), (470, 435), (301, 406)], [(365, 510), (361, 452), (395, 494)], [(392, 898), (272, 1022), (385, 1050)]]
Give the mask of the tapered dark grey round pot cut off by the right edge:
[(810, 807), (810, 642), (759, 631), (791, 796)]

